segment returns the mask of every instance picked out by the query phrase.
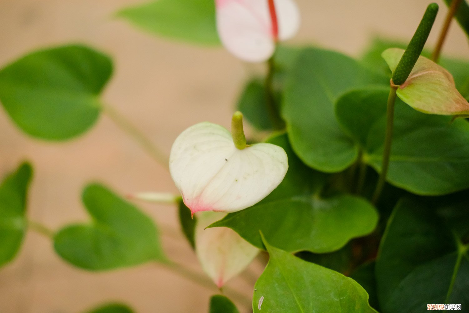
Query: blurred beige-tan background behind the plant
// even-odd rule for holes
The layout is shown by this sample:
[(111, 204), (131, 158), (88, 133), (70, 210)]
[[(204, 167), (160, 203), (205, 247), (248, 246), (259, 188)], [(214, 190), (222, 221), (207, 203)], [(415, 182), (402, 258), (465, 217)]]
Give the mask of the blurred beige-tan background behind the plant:
[[(169, 153), (175, 137), (192, 124), (229, 126), (234, 101), (251, 66), (222, 48), (202, 48), (156, 38), (113, 13), (139, 0), (0, 0), (0, 67), (44, 46), (82, 42), (112, 55), (115, 72), (106, 103), (116, 107)], [(409, 39), (428, 0), (298, 0), (302, 13), (296, 43), (358, 55), (373, 34)], [(446, 14), (443, 1), (430, 44)], [(454, 23), (444, 53), (469, 58), (469, 45)], [(176, 192), (166, 172), (103, 115), (73, 141), (48, 143), (23, 135), (0, 111), (0, 175), (21, 160), (35, 168), (29, 216), (52, 229), (87, 221), (80, 194), (90, 181), (121, 195), (135, 191)], [(189, 245), (178, 231), (172, 206), (140, 204), (162, 229), (167, 254), (197, 271)], [(251, 272), (260, 273), (260, 264)], [(244, 275), (247, 276), (247, 275)], [(249, 281), (249, 279), (248, 279)], [(229, 283), (248, 297), (252, 283)], [(88, 273), (60, 260), (51, 242), (29, 232), (14, 262), (0, 269), (0, 313), (82, 313), (121, 300), (136, 313), (203, 313), (216, 290), (207, 290), (155, 265)], [(246, 312), (246, 310), (244, 310)]]

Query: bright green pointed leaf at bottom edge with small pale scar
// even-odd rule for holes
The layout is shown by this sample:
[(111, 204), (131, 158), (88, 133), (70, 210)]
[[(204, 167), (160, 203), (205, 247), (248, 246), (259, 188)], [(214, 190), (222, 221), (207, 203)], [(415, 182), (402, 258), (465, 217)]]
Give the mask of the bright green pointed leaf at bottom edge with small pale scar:
[(265, 242), (269, 263), (254, 289), (254, 313), (376, 312), (353, 279), (294, 257)]

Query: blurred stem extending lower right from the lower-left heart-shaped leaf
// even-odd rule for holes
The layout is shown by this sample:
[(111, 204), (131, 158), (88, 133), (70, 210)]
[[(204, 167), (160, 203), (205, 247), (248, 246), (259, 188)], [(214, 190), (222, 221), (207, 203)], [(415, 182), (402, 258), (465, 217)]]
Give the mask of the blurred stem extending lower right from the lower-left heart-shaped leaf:
[[(167, 269), (173, 271), (174, 273), (188, 279), (191, 282), (195, 282), (199, 284), (200, 286), (209, 289), (209, 290), (217, 290), (217, 287), (215, 284), (205, 275), (199, 274), (197, 272), (194, 272), (190, 270), (187, 267), (182, 266), (181, 264), (170, 262), (170, 263), (157, 263), (158, 265), (163, 265)], [(243, 305), (251, 305), (251, 300), (241, 292), (234, 290), (230, 287), (224, 286), (223, 290), (225, 293), (229, 296), (229, 298), (232, 298), (234, 300), (239, 301)]]

